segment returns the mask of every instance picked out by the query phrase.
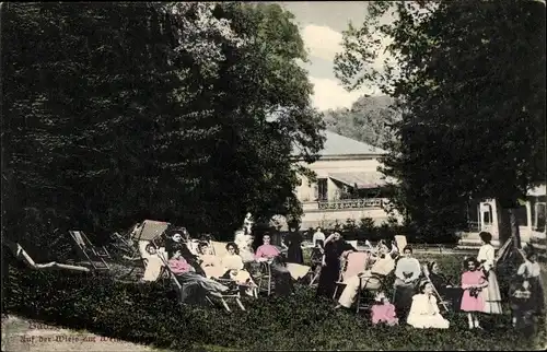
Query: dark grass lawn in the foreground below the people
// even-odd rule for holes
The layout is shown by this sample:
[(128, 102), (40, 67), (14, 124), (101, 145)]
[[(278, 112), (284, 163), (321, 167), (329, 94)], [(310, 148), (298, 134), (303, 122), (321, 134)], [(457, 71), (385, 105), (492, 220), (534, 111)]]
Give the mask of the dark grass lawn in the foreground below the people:
[[(452, 257), (452, 265), (459, 262)], [(451, 263), (441, 263), (447, 267)], [(334, 309), (298, 286), (289, 298), (245, 301), (247, 312), (176, 303), (159, 283), (131, 284), (79, 273), (10, 269), (8, 313), (72, 329), (174, 351), (214, 345), (236, 350), (527, 350), (534, 338), (515, 333), (510, 316), (485, 317), (491, 331), (469, 331), (465, 315), (446, 314), (451, 329), (372, 327), (363, 316)]]

